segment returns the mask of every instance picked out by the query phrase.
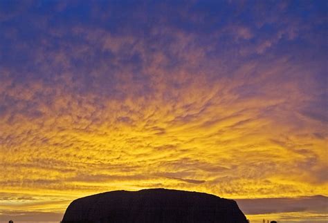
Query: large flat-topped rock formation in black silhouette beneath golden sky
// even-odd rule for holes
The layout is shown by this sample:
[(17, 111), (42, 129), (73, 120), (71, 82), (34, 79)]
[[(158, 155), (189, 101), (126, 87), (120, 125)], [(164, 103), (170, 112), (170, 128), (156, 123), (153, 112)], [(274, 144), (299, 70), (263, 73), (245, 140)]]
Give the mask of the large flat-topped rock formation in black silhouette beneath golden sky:
[(79, 198), (66, 209), (62, 222), (247, 221), (234, 200), (207, 193), (158, 188), (111, 191)]

